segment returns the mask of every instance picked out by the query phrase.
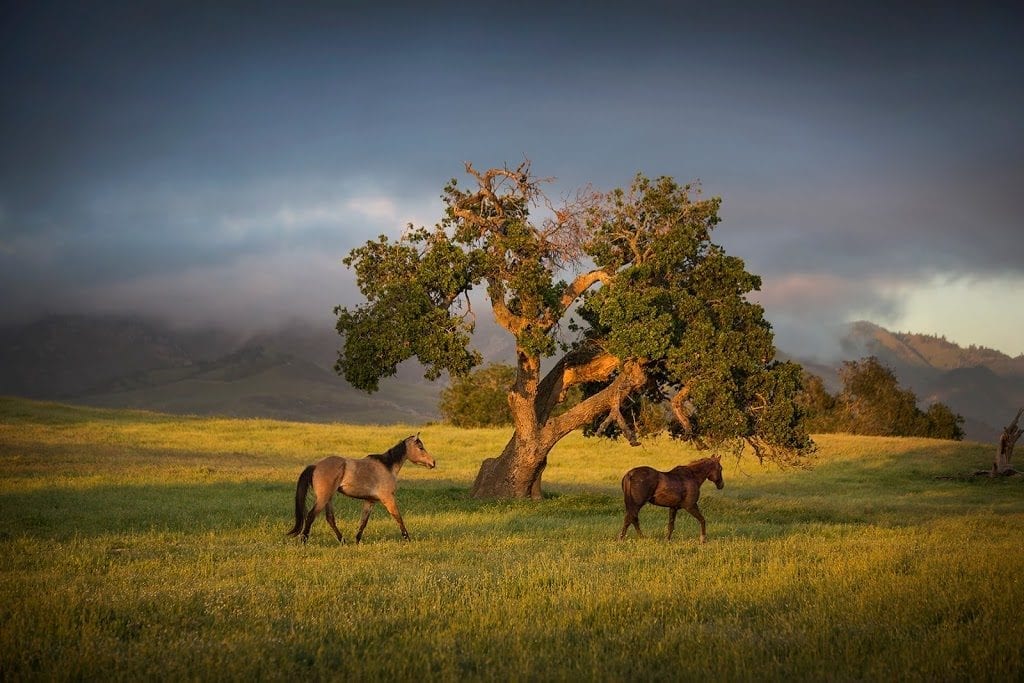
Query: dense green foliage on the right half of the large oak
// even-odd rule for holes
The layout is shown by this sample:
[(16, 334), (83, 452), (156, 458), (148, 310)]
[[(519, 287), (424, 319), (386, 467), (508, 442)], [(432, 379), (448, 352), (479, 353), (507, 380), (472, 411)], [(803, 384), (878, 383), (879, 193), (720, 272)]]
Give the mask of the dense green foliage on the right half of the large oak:
[(611, 193), (591, 254), (616, 278), (578, 311), (587, 338), (642, 360), (648, 398), (685, 389), (695, 411), (688, 436), (758, 439), (777, 450), (773, 455), (799, 457), (812, 449), (793, 403), (799, 369), (772, 360), (771, 326), (745, 298), (760, 279), (711, 242), (721, 201), (692, 193), (672, 178), (643, 175), (629, 191)]

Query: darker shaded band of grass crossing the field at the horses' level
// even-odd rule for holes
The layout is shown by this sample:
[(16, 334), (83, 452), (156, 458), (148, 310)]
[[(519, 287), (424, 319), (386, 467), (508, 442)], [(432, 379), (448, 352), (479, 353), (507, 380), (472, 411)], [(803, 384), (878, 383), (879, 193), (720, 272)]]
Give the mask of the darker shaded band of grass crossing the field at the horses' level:
[[(1022, 483), (1013, 480), (937, 480), (949, 459), (931, 450), (892, 458), (839, 459), (815, 470), (750, 480), (733, 478), (722, 492), (703, 490), (701, 509), (712, 536), (781, 537), (815, 525), (904, 526), (978, 509), (1024, 512)], [(967, 469), (973, 464), (966, 464)], [(622, 523), (622, 500), (615, 486), (560, 490), (550, 485), (543, 501), (480, 501), (464, 481), (433, 479), (402, 482), (398, 503), (414, 538), (485, 537), (542, 533), (615, 536)], [(292, 481), (209, 481), (176, 484), (97, 484), (74, 488), (35, 488), (0, 494), (0, 538), (63, 540), (132, 532), (232, 532), (253, 526), (284, 535), (294, 514)], [(355, 529), (360, 503), (335, 498), (339, 525), (346, 537)], [(431, 519), (433, 518), (433, 519)], [(641, 524), (664, 533), (667, 513), (647, 506)], [(680, 515), (684, 536), (695, 524)], [(331, 537), (318, 519), (315, 535)], [(397, 535), (378, 506), (368, 537)], [(332, 539), (333, 542), (333, 539)]]

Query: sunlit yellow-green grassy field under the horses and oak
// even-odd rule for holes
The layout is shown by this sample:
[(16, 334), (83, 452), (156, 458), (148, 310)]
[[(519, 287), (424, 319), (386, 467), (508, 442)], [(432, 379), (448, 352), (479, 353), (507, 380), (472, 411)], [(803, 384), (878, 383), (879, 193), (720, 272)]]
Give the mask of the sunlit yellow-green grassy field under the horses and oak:
[[(572, 435), (540, 503), (467, 489), (505, 430), (426, 426), (412, 543), (323, 519), (302, 467), (416, 426), (215, 420), (0, 398), (0, 680), (1021, 680), (1024, 481), (993, 447), (820, 436), (816, 466), (726, 465), (709, 543), (618, 479), (697, 454)], [(951, 478), (936, 478), (948, 476)], [(359, 504), (338, 501), (354, 531)]]

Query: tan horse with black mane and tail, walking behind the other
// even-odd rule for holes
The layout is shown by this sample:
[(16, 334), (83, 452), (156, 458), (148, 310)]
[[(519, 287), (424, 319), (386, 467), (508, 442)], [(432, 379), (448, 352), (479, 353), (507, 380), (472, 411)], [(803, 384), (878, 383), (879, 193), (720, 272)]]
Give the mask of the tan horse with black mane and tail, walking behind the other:
[[(301, 536), (302, 543), (305, 543), (309, 539), (309, 527), (323, 510), (327, 523), (334, 529), (338, 541), (345, 543), (345, 538), (335, 523), (334, 507), (331, 505), (331, 499), (338, 490), (349, 498), (364, 501), (362, 519), (359, 521), (359, 529), (355, 532), (355, 543), (362, 540), (362, 529), (367, 527), (370, 512), (377, 503), (382, 504), (391, 513), (391, 517), (398, 522), (398, 528), (401, 529), (401, 538), (409, 541), (409, 531), (401, 520), (398, 503), (394, 498), (395, 479), (407, 460), (428, 469), (433, 469), (437, 465), (433, 457), (427, 453), (419, 434), (398, 441), (386, 453), (366, 458), (328, 456), (314, 465), (309, 465), (302, 470), (295, 487), (295, 526), (288, 531), (288, 536)], [(307, 513), (306, 494), (310, 486), (316, 495), (316, 500)]]

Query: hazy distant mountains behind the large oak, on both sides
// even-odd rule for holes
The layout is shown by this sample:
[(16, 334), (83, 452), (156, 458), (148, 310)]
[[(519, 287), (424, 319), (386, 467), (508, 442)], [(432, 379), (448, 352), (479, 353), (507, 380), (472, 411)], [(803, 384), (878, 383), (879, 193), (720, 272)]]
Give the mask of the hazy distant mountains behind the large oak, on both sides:
[[(367, 394), (334, 372), (340, 338), (330, 324), (293, 323), (242, 335), (177, 329), (139, 316), (50, 315), (0, 327), (0, 393), (108, 408), (306, 422), (421, 424), (440, 418), (444, 382), (415, 362)], [(509, 338), (481, 324), (485, 360), (512, 362)], [(968, 438), (994, 440), (1024, 405), (1024, 355), (962, 348), (941, 337), (852, 324), (843, 357), (878, 356), (923, 405), (942, 401), (966, 418)], [(784, 355), (784, 354), (780, 354)], [(839, 388), (840, 362), (793, 359)]]

